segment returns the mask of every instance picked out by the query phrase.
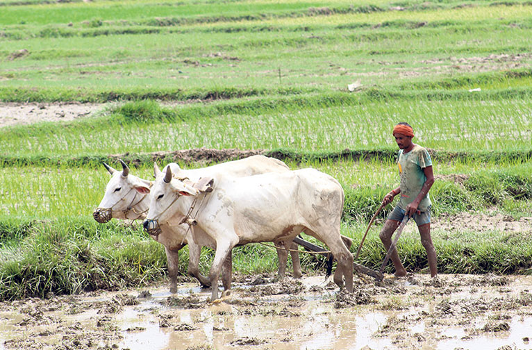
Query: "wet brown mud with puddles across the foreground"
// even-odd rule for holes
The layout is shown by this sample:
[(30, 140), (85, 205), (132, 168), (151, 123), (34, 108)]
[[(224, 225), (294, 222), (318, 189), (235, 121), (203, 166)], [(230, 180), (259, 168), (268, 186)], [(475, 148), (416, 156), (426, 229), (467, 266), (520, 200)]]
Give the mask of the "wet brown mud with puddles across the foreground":
[(97, 292), (0, 304), (3, 349), (532, 349), (532, 276), (356, 278), (247, 276), (207, 302), (177, 294)]

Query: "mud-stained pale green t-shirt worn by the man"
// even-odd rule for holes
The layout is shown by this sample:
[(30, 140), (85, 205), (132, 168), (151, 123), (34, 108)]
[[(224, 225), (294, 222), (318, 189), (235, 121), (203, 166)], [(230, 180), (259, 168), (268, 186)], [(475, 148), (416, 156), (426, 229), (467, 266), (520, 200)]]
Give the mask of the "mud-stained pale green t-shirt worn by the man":
[[(402, 149), (399, 150), (397, 165), (399, 166), (399, 176), (401, 176), (399, 208), (406, 210), (406, 206), (412, 203), (417, 194), (421, 192), (426, 181), (423, 169), (432, 165), (431, 155), (426, 149), (415, 144), (412, 151), (408, 153), (404, 153)], [(419, 202), (417, 209), (424, 212), (430, 205), (431, 199), (427, 193), (425, 198)]]

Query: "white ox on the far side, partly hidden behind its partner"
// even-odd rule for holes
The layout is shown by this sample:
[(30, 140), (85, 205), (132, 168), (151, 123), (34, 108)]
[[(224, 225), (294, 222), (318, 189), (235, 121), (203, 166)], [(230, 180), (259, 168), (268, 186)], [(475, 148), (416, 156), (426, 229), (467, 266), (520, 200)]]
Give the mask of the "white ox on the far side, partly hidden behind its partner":
[[(110, 221), (113, 217), (116, 219), (144, 219), (149, 209), (150, 196), (147, 194), (140, 194), (135, 188), (147, 187), (149, 188), (153, 183), (144, 180), (137, 176), (130, 174), (128, 166), (122, 163), (122, 172), (119, 172), (113, 167), (103, 163), (112, 175), (110, 181), (106, 186), (106, 193), (101, 199), (101, 202), (94, 210), (93, 216), (97, 222), (104, 223)], [(261, 174), (263, 172), (288, 172), (288, 167), (274, 158), (265, 156), (251, 156), (242, 160), (235, 160), (232, 162), (221, 163), (201, 169), (181, 169), (177, 164), (171, 163), (167, 165), (172, 169), (173, 174), (180, 178), (188, 177), (192, 179), (199, 179), (198, 174), (217, 174), (218, 172), (232, 174), (233, 176), (249, 176), (252, 174)], [(190, 230), (186, 224), (178, 224), (176, 222), (169, 222), (160, 226), (161, 233), (159, 235), (151, 235), (153, 240), (160, 242), (165, 247), (168, 274), (170, 279), (170, 292), (177, 290), (177, 275), (178, 275), (178, 251), (188, 244), (189, 250), (189, 264), (188, 274), (197, 278), (199, 283), (204, 286), (210, 286), (210, 281), (199, 272), (199, 257), (201, 247), (207, 246), (215, 248), (212, 241), (204, 242), (203, 244), (196, 244), (192, 240)], [(278, 247), (288, 242), (281, 242)], [(297, 244), (290, 244), (290, 248), (297, 249)], [(279, 256), (279, 278), (285, 277), (286, 261), (288, 252), (285, 249), (277, 250)], [(301, 277), (301, 266), (299, 263), (299, 256), (296, 252), (290, 253), (292, 257), (292, 265), (294, 268), (293, 276)], [(231, 257), (226, 262), (228, 274), (231, 274)], [(227, 283), (227, 282), (226, 282)], [(226, 284), (224, 283), (224, 284)], [(230, 283), (230, 281), (228, 282)]]

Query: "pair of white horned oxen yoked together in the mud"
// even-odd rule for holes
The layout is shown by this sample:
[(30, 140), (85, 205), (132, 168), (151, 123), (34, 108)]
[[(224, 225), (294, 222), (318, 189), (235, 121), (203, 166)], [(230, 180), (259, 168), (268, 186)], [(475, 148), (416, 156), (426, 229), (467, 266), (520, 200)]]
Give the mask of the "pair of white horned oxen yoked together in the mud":
[[(333, 281), (353, 290), (351, 240), (340, 235), (344, 205), (342, 186), (335, 178), (306, 168), (290, 171), (275, 158), (251, 156), (242, 160), (181, 169), (171, 163), (161, 171), (154, 165), (155, 182), (106, 166), (112, 175), (106, 194), (94, 210), (97, 222), (144, 219), (144, 229), (164, 245), (170, 292), (176, 292), (178, 251), (188, 244), (188, 273), (212, 288), (218, 298), (222, 274), (224, 293), (231, 290), (231, 250), (252, 242), (274, 242), (279, 256), (279, 277), (285, 277), (292, 240), (306, 233), (329, 247), (337, 267)], [(201, 185), (197, 185), (201, 184)], [(215, 249), (208, 278), (199, 272), (201, 247)], [(299, 256), (292, 251), (294, 277), (301, 276)]]

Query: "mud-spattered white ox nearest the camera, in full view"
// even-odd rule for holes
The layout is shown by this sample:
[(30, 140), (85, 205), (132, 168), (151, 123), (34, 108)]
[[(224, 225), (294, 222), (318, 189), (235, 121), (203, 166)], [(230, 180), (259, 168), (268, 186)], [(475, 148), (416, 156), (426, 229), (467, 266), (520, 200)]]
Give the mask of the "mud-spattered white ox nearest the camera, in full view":
[[(338, 262), (333, 280), (342, 287), (345, 279), (347, 290), (353, 291), (353, 255), (340, 235), (344, 192), (335, 178), (308, 168), (243, 178), (219, 174), (213, 179), (213, 192), (198, 194), (173, 178), (169, 167), (158, 172), (144, 221), (144, 228), (151, 231), (161, 223), (181, 220), (194, 198), (201, 201), (204, 196), (195, 216), (193, 239), (215, 241), (216, 254), (209, 272), (211, 300), (218, 298), (219, 274), (233, 247), (251, 242), (290, 242), (301, 232), (331, 249)], [(150, 191), (147, 187), (142, 190)], [(226, 277), (222, 276), (222, 281)], [(224, 283), (224, 293), (230, 288), (231, 284)]]

